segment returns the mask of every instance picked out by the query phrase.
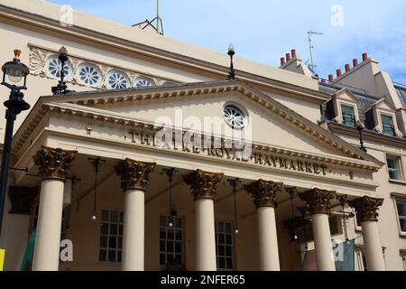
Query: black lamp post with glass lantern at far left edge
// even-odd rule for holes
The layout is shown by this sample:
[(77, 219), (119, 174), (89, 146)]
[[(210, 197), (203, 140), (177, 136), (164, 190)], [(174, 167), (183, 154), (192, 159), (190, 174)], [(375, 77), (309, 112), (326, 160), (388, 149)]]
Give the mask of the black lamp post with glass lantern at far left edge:
[[(5, 143), (3, 146), (2, 172), (0, 174), (0, 234), (3, 224), (3, 212), (5, 210), (5, 191), (7, 190), (14, 120), (23, 110), (30, 109), (30, 105), (24, 101), (24, 95), (23, 92), (21, 92), (21, 90), (27, 89), (25, 85), (30, 70), (25, 64), (20, 62), (20, 55), (21, 51), (14, 50), (13, 61), (6, 62), (2, 67), (3, 81), (1, 84), (10, 89), (10, 96), (8, 100), (5, 101)], [(6, 82), (5, 76), (7, 76), (8, 80), (13, 82), (13, 84)], [(22, 80), (23, 85), (21, 85)]]

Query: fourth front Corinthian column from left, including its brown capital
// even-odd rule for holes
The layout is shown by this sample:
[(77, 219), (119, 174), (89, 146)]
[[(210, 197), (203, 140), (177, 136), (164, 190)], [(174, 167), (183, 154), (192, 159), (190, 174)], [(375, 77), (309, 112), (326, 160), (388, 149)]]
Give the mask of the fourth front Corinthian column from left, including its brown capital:
[(275, 202), (276, 194), (281, 192), (281, 182), (259, 180), (245, 185), (251, 193), (258, 215), (258, 234), (262, 271), (279, 271), (278, 238), (276, 233)]

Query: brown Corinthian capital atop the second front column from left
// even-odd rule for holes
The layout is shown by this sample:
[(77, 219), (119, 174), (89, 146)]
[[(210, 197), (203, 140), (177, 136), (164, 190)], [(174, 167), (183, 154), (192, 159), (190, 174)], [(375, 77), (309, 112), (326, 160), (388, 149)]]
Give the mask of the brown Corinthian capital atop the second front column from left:
[(118, 163), (115, 166), (115, 173), (121, 177), (123, 191), (145, 191), (155, 165), (156, 163), (143, 163), (128, 158), (124, 162)]

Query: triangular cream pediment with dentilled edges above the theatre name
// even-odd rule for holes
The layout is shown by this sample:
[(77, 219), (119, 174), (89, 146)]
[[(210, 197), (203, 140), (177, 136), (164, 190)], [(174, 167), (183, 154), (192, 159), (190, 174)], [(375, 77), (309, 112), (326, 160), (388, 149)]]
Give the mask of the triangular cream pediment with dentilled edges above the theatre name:
[(223, 121), (223, 107), (235, 104), (249, 117), (247, 127), (252, 129), (255, 145), (289, 150), (293, 154), (314, 154), (330, 159), (337, 156), (372, 162), (374, 164), (371, 165), (376, 166), (381, 164), (374, 157), (239, 80), (73, 93), (59, 98), (43, 97), (41, 102), (43, 105), (62, 107), (60, 109), (86, 111), (109, 119), (134, 119), (152, 125), (156, 125), (156, 119), (162, 116), (171, 118), (176, 124), (177, 113), (181, 113), (182, 119), (197, 117), (202, 123), (204, 117), (217, 117)]

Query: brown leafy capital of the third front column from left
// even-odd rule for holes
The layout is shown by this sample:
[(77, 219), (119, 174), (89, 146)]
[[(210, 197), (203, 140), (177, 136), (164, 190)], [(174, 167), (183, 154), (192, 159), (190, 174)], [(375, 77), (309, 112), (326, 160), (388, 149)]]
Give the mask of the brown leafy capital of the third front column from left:
[(223, 179), (224, 173), (221, 172), (205, 172), (197, 170), (189, 172), (183, 176), (183, 181), (190, 186), (191, 193), (195, 200), (211, 199), (216, 196), (216, 185)]

